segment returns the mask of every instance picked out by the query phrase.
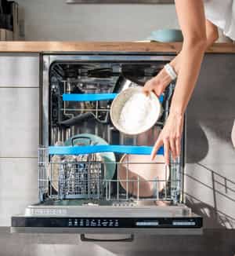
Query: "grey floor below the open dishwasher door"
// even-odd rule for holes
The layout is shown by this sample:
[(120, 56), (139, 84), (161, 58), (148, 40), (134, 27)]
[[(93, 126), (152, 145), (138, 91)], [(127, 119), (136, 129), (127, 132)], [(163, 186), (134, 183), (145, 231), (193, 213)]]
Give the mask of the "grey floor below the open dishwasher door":
[(81, 242), (78, 235), (11, 234), (0, 229), (0, 256), (233, 256), (235, 230), (208, 229), (203, 236), (137, 236), (132, 243)]

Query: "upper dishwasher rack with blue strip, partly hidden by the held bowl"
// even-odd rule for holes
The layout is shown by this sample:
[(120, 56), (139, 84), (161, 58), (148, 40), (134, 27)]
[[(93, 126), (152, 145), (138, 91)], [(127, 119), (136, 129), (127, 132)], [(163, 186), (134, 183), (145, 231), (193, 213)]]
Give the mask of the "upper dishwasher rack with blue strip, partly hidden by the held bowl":
[[(110, 104), (117, 93), (112, 93), (112, 87), (101, 86), (99, 90), (94, 90), (93, 87), (90, 89), (89, 85), (86, 85), (81, 91), (78, 81), (53, 82), (50, 113), (53, 125), (71, 127), (89, 119), (95, 119), (103, 124), (110, 123)], [(166, 93), (160, 97), (164, 107), (164, 115), (158, 122), (161, 126), (168, 115), (168, 103), (173, 87), (169, 86)]]

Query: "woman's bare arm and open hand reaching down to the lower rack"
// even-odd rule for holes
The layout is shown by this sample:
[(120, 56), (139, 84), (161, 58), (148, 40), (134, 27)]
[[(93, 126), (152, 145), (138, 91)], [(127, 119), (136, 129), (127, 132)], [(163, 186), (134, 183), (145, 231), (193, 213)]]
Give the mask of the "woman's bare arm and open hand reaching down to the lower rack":
[(207, 42), (203, 1), (175, 0), (175, 7), (184, 38), (179, 75), (168, 120), (157, 138), (151, 155), (154, 158), (158, 148), (164, 144), (166, 164), (169, 163), (170, 152), (173, 159), (180, 153), (183, 115), (197, 82)]

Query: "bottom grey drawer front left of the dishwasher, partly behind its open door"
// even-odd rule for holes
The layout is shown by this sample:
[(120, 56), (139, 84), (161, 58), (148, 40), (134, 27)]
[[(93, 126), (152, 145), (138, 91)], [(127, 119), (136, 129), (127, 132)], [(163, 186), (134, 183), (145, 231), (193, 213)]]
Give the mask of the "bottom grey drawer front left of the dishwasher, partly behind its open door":
[(38, 159), (0, 158), (0, 226), (38, 202)]

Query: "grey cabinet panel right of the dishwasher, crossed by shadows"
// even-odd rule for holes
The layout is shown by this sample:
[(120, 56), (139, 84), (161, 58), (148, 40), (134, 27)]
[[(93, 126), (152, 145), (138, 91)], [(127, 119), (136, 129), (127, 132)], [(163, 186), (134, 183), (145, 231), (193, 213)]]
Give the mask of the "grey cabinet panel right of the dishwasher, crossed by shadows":
[(206, 55), (187, 110), (186, 203), (209, 228), (235, 228), (234, 67), (234, 54)]

